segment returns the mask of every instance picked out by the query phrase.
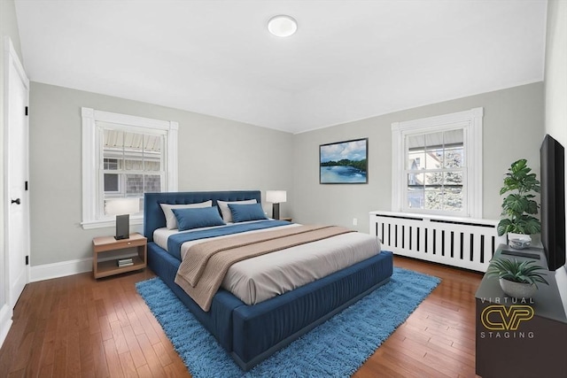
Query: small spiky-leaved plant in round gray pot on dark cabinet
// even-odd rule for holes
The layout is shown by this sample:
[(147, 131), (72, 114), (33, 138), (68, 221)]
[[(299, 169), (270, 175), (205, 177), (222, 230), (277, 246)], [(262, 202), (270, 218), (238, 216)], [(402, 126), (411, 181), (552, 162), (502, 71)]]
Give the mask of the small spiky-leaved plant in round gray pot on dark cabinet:
[(515, 298), (529, 298), (538, 289), (538, 282), (548, 285), (541, 272), (546, 269), (533, 260), (518, 261), (516, 258), (493, 258), (486, 276), (498, 277), (504, 293)]

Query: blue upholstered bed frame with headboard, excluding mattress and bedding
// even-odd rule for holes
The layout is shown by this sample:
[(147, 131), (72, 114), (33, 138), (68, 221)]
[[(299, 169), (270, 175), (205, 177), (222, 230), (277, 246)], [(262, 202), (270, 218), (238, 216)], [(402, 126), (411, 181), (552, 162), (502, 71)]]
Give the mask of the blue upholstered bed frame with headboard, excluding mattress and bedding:
[(246, 305), (228, 289), (221, 288), (205, 311), (175, 283), (182, 262), (175, 253), (166, 251), (163, 242), (156, 243), (159, 241), (154, 240), (154, 233), (159, 235), (156, 230), (166, 227), (161, 204), (198, 204), (209, 200), (213, 206), (217, 201), (255, 200), (261, 204), (261, 195), (258, 190), (146, 193), (144, 235), (148, 239), (148, 265), (245, 371), (390, 280), (392, 253), (379, 251), (352, 266), (253, 305)]

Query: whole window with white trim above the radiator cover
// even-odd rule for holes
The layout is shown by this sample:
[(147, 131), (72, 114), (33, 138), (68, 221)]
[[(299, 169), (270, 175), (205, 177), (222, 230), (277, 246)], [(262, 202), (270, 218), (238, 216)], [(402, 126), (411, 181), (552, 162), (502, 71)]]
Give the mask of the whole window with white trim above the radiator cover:
[(482, 218), (482, 116), (392, 124), (392, 211)]

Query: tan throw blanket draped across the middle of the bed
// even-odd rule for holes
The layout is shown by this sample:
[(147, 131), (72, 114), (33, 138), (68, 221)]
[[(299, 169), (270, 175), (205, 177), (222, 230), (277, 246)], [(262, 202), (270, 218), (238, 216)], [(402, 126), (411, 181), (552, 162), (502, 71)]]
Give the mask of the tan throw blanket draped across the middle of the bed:
[(338, 226), (297, 226), (198, 243), (185, 253), (175, 283), (209, 311), (229, 267), (238, 261), (349, 232)]

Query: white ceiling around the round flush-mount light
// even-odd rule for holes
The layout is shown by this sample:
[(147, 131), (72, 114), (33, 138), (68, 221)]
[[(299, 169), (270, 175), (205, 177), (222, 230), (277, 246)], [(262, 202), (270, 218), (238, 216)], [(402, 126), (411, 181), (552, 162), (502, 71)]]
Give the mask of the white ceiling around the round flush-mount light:
[[(32, 81), (297, 133), (542, 81), (545, 0), (16, 0)], [(298, 20), (270, 35), (276, 14)]]

